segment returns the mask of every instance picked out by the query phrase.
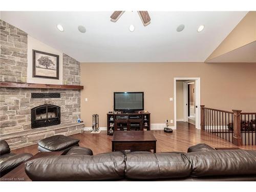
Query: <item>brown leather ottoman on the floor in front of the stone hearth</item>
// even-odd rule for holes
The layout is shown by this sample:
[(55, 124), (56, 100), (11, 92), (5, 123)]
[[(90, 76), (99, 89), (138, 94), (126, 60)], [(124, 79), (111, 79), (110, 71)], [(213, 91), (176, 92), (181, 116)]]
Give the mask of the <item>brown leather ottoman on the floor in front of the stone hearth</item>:
[(79, 146), (79, 139), (74, 139), (65, 135), (55, 135), (38, 141), (39, 152), (64, 151), (66, 154), (73, 146)]

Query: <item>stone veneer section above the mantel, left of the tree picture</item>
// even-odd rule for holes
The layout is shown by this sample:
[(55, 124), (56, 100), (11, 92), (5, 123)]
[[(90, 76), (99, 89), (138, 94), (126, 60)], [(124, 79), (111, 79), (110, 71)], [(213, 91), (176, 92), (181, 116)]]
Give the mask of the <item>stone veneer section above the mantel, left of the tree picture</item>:
[(0, 19), (0, 81), (27, 81), (28, 34)]

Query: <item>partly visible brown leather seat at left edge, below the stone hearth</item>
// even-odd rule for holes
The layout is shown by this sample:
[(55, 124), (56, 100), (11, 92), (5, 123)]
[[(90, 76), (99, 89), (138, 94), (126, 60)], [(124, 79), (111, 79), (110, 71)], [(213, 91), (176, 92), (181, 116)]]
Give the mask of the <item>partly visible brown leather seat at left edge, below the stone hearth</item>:
[(0, 177), (31, 158), (29, 153), (14, 154), (5, 140), (0, 141)]

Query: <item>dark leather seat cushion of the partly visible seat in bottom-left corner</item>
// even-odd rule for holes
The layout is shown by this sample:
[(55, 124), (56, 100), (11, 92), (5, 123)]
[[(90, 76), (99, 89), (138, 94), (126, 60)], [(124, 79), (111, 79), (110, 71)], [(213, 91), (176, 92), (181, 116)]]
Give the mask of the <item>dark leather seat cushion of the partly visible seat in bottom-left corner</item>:
[[(8, 155), (8, 156), (7, 156)], [(23, 154), (6, 154), (4, 160), (0, 162), (0, 173), (1, 177), (6, 173), (10, 172), (13, 168), (17, 167), (18, 165), (22, 164), (23, 162), (27, 161), (31, 158), (32, 155), (29, 153)], [(2, 156), (1, 156), (2, 159)]]

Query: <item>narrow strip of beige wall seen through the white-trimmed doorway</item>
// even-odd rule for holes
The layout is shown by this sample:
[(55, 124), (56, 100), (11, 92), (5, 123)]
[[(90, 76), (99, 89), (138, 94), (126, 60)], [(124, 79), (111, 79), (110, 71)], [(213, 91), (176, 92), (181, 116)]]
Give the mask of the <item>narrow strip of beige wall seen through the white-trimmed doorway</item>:
[(176, 82), (176, 119), (183, 119), (183, 81)]

